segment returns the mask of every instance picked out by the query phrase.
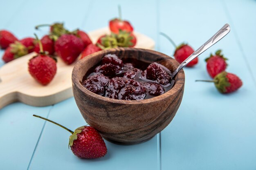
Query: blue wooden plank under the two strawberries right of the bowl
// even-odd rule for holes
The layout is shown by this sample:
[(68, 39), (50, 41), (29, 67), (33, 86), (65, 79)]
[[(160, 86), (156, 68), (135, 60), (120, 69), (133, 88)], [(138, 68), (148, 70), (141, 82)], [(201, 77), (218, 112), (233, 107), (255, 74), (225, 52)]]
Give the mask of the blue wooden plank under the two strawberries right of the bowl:
[[(220, 1), (163, 0), (159, 11), (160, 31), (177, 43), (188, 41), (195, 49), (229, 22)], [(171, 124), (161, 132), (162, 170), (256, 167), (256, 131), (252, 130), (256, 128), (256, 91), (232, 31), (235, 26), (231, 24), (229, 35), (199, 56), (195, 68), (185, 68), (182, 104)], [(162, 37), (159, 46), (161, 52), (173, 51)], [(236, 73), (244, 81), (236, 93), (222, 95), (213, 84), (195, 82), (195, 79), (210, 79), (204, 59), (216, 49), (223, 49), (229, 58), (227, 71)]]

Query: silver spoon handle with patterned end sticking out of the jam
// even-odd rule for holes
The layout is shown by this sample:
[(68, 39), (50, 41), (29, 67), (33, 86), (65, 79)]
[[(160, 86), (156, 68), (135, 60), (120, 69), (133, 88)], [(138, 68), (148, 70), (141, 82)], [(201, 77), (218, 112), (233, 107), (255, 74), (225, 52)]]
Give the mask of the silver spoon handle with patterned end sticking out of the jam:
[(171, 74), (171, 78), (173, 78), (184, 66), (189, 64), (195, 57), (198, 57), (198, 55), (202, 54), (204, 51), (209, 49), (213, 44), (221, 40), (223, 37), (225, 37), (230, 31), (229, 24), (225, 24), (222, 26), (222, 28), (214, 34), (207, 42), (205, 42), (202, 46), (200, 46), (194, 53), (192, 53), (189, 57), (182, 62), (178, 68)]

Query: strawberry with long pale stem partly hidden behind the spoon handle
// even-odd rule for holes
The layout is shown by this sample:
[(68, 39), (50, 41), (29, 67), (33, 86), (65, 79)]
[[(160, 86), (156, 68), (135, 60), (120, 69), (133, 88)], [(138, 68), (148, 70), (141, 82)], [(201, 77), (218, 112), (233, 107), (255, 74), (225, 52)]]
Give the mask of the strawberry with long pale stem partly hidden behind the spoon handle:
[[(184, 60), (187, 59), (187, 57), (189, 57), (194, 50), (192, 49), (191, 46), (189, 46), (188, 44), (180, 44), (179, 46), (176, 46), (176, 44), (173, 42), (173, 40), (168, 37), (168, 35), (166, 35), (165, 33), (160, 33), (161, 35), (163, 35), (165, 38), (167, 38), (171, 44), (173, 44), (173, 46), (175, 47), (175, 52), (173, 54), (175, 60), (177, 60), (177, 62), (179, 62), (180, 64), (182, 62), (184, 62)], [(195, 64), (198, 63), (198, 57), (196, 57), (194, 60), (192, 60), (189, 64), (187, 64), (187, 67), (192, 67)]]

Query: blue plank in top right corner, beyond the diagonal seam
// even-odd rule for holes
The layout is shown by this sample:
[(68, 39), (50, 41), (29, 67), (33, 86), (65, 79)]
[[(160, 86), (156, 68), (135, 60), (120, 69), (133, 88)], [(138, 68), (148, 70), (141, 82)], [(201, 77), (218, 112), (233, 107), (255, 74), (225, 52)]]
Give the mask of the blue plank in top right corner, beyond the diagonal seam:
[(255, 38), (256, 38), (256, 2), (253, 0), (225, 0), (222, 1), (225, 12), (234, 25), (234, 34), (242, 57), (246, 61), (246, 66), (253, 75), (256, 85), (256, 54), (255, 54)]

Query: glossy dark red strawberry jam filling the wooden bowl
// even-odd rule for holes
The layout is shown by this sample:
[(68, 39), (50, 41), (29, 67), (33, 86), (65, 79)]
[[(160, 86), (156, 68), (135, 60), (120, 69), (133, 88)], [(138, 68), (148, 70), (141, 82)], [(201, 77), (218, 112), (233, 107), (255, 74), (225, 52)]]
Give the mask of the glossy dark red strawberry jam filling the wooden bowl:
[(84, 75), (82, 85), (98, 95), (121, 100), (142, 100), (162, 95), (174, 84), (168, 68), (134, 58), (105, 55)]

